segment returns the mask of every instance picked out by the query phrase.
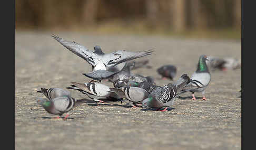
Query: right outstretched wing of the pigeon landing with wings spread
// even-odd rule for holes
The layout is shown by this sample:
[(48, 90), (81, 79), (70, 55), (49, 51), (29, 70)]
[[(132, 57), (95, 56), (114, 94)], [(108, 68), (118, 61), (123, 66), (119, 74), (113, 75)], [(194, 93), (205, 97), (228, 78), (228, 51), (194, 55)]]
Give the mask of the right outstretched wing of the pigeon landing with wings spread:
[(147, 55), (151, 55), (153, 51), (147, 50), (147, 51), (126, 51), (126, 50), (119, 50), (114, 51), (111, 53), (107, 53), (103, 56), (102, 60), (106, 67), (112, 67), (116, 66), (119, 63), (144, 57)]

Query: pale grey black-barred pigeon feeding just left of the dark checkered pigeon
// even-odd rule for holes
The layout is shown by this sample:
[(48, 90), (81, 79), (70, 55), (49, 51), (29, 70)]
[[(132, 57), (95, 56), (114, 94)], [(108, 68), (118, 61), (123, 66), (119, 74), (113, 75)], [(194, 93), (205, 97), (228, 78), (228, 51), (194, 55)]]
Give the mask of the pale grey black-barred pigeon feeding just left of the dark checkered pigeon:
[(133, 108), (137, 108), (136, 104), (142, 102), (144, 99), (149, 97), (149, 92), (138, 87), (126, 86), (126, 87), (122, 87), (121, 89), (110, 88), (109, 92), (110, 93), (114, 92), (120, 97), (129, 100), (130, 102), (132, 102), (131, 105)]

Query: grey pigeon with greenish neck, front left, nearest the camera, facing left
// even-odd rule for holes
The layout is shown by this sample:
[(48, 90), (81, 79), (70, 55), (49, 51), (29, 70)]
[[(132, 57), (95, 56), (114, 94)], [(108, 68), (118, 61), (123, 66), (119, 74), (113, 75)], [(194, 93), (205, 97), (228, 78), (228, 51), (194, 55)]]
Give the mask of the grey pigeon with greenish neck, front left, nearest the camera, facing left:
[[(57, 119), (60, 118), (63, 113), (71, 111), (76, 102), (76, 99), (67, 95), (64, 95), (63, 97), (56, 97), (51, 100), (37, 98), (37, 103), (42, 105), (48, 113), (59, 115), (56, 117)], [(67, 119), (68, 115), (69, 114), (64, 117), (64, 120)]]

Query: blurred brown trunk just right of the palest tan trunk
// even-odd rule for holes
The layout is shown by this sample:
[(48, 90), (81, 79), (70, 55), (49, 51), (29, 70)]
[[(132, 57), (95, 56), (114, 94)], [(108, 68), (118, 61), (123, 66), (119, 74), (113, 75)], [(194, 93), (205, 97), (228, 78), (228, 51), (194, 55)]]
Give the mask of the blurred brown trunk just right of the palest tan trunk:
[(206, 28), (206, 18), (205, 13), (202, 9), (202, 4), (200, 0), (190, 0), (190, 20), (193, 29), (205, 29)]

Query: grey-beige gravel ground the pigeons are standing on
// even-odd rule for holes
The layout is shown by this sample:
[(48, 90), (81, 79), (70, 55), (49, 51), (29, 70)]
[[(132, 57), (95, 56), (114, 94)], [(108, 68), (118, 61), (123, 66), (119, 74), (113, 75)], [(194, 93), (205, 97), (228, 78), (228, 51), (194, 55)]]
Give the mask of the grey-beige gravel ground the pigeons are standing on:
[[(153, 76), (165, 85), (156, 69), (175, 65), (174, 80), (195, 71), (202, 54), (241, 58), (241, 41), (182, 39), (158, 36), (54, 33), (93, 50), (144, 51), (154, 48), (151, 69), (133, 73)], [(51, 33), (16, 32), (15, 44), (15, 148), (16, 149), (241, 149), (241, 69), (211, 72), (211, 82), (198, 100), (190, 93), (177, 99), (169, 111), (130, 108), (124, 101), (96, 106), (91, 100), (77, 106), (66, 121), (52, 119), (36, 103), (40, 88), (66, 88), (71, 81), (87, 82), (86, 61), (65, 49)], [(137, 59), (137, 60), (139, 60)], [(103, 82), (111, 85), (109, 82)], [(76, 99), (88, 99), (72, 91)], [(63, 115), (64, 117), (64, 115)]]

